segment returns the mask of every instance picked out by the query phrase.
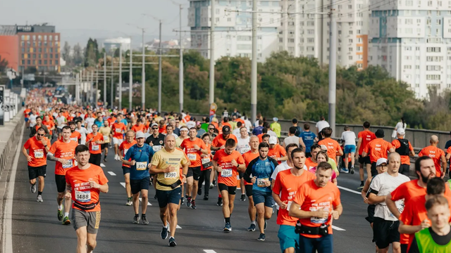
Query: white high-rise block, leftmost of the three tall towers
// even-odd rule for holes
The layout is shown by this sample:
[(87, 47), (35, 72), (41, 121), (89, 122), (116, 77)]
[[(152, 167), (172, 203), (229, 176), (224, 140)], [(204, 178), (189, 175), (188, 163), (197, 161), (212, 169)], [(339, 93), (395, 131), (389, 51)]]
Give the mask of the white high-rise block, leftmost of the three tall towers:
[[(215, 1), (214, 59), (223, 56), (252, 57), (252, 1)], [(263, 62), (278, 48), (280, 25), (279, 0), (257, 1), (257, 60)], [(191, 49), (210, 58), (211, 1), (190, 0), (188, 26), (191, 27)], [(233, 10), (236, 12), (229, 12)], [(241, 11), (241, 12), (240, 12)]]

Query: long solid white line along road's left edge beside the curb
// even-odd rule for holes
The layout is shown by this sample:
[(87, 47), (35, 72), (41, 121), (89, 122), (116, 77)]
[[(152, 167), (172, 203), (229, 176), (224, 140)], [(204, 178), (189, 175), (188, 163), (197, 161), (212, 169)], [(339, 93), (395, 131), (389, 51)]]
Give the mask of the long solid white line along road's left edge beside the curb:
[(6, 198), (5, 215), (3, 222), (2, 245), (3, 250), (1, 252), (13, 252), (13, 199), (14, 199), (14, 183), (16, 182), (17, 164), (19, 162), (20, 151), (22, 150), (20, 145), (23, 141), (23, 130), (25, 129), (25, 123), (22, 125), (22, 132), (20, 133), (19, 145), (17, 145), (16, 156), (14, 157), (13, 167), (11, 168), (11, 176), (9, 178), (8, 196)]

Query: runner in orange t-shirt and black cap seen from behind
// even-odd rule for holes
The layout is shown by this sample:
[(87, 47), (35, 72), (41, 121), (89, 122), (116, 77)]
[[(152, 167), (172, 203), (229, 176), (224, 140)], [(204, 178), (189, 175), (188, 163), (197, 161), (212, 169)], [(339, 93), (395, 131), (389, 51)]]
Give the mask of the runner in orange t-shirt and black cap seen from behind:
[(378, 174), (378, 170), (376, 169), (376, 162), (378, 159), (387, 159), (388, 153), (395, 152), (395, 148), (393, 148), (392, 143), (383, 140), (384, 133), (382, 129), (378, 129), (375, 135), (376, 138), (364, 147), (364, 151), (362, 153), (362, 157), (369, 156), (369, 160), (371, 162), (371, 177)]

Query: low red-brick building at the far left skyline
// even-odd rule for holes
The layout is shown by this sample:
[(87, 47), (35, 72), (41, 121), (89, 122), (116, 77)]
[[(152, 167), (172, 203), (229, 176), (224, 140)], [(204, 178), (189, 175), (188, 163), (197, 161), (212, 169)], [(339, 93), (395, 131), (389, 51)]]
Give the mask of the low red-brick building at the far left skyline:
[[(60, 71), (60, 34), (51, 25), (1, 25), (0, 55), (14, 56), (18, 71), (36, 67), (38, 71)], [(16, 39), (12, 39), (16, 37)], [(18, 44), (13, 43), (17, 41)], [(17, 60), (16, 60), (17, 59)]]

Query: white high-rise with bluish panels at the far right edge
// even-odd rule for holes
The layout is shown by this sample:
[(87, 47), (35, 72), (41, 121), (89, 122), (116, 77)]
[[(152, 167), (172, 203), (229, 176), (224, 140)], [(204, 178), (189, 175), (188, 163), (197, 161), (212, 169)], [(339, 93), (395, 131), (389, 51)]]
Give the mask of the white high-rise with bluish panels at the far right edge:
[(428, 98), (430, 87), (450, 89), (451, 1), (397, 0), (375, 7), (369, 64), (407, 82), (417, 98)]

